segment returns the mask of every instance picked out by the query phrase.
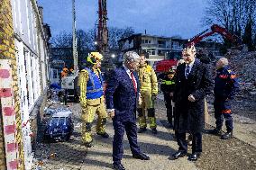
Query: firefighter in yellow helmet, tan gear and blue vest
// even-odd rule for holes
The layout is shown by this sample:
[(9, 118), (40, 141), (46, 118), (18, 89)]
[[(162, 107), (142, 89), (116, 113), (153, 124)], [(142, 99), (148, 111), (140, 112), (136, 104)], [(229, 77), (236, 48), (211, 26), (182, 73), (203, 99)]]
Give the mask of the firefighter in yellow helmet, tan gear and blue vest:
[(103, 138), (109, 135), (105, 132), (106, 111), (103, 92), (104, 80), (99, 67), (103, 56), (91, 52), (87, 57), (88, 66), (81, 70), (79, 76), (80, 103), (82, 106), (82, 139), (87, 148), (92, 147), (92, 122), (97, 114), (96, 134)]

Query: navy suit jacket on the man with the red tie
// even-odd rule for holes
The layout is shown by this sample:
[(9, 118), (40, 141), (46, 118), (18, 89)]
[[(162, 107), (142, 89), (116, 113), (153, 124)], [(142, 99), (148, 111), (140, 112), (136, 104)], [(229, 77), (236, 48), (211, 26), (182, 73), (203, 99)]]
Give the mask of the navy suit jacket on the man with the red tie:
[(124, 67), (114, 69), (107, 82), (105, 104), (107, 109), (114, 109), (114, 121), (136, 121), (136, 103), (139, 91), (139, 79), (133, 72), (137, 82), (137, 94), (133, 81)]

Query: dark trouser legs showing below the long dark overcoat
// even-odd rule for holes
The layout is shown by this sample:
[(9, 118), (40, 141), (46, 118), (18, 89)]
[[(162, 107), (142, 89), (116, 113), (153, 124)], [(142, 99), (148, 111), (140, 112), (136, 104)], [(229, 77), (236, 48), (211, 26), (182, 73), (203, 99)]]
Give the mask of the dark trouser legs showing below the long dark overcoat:
[[(186, 141), (186, 133), (176, 132), (177, 142), (178, 142), (178, 150), (183, 150), (187, 152), (187, 141)], [(192, 154), (201, 153), (202, 152), (202, 133), (192, 134)]]

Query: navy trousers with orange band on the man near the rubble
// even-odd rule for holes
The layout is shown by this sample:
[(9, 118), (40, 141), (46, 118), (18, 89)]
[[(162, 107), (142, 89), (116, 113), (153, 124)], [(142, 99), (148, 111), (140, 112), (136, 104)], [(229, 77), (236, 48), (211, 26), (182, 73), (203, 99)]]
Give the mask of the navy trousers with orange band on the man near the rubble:
[(226, 130), (228, 132), (233, 130), (233, 118), (230, 101), (215, 99), (215, 123), (216, 129), (221, 130), (223, 121), (225, 120)]

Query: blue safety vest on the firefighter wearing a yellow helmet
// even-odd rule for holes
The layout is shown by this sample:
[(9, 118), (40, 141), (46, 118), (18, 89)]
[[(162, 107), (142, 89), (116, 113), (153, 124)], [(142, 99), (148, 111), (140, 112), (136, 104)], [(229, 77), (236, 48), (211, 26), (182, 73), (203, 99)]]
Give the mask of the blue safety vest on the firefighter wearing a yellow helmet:
[(103, 77), (101, 72), (98, 76), (89, 68), (85, 68), (88, 72), (88, 82), (87, 82), (87, 99), (97, 99), (100, 98), (103, 93)]

